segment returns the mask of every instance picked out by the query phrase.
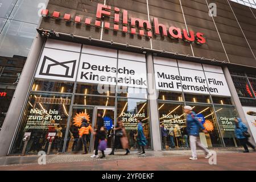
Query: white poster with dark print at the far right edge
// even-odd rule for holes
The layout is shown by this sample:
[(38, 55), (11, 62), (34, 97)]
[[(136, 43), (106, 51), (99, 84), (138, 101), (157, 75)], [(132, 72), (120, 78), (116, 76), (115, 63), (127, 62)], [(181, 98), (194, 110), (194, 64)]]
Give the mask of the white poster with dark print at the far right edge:
[(243, 111), (256, 143), (256, 107), (243, 107)]

